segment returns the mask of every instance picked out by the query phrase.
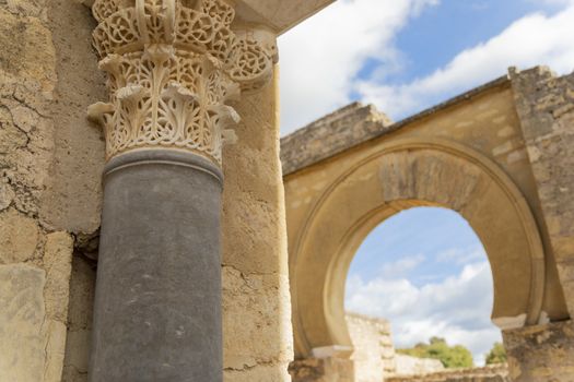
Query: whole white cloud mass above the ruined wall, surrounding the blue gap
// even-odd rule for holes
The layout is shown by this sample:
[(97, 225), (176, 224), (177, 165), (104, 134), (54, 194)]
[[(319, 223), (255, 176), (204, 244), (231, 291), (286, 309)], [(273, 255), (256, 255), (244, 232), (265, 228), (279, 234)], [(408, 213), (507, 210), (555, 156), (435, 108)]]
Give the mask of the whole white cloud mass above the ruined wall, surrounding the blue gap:
[[(541, 8), (554, 4), (562, 11), (527, 15), (427, 76), (386, 84), (386, 75), (402, 64), (402, 52), (394, 44), (397, 33), (437, 3), (339, 0), (282, 36), (282, 133), (345, 105), (353, 93), (400, 118), (503, 75), (512, 65), (548, 64), (559, 73), (574, 69), (574, 0), (541, 0), (537, 2)], [(359, 79), (368, 60), (378, 68), (372, 79)]]

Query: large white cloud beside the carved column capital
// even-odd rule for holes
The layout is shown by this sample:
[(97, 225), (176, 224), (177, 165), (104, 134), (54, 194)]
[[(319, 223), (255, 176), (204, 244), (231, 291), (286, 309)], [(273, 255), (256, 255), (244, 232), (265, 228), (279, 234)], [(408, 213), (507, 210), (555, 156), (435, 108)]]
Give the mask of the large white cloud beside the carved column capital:
[(339, 0), (279, 39), (283, 133), (349, 102), (368, 58), (396, 65), (393, 38), (438, 0)]

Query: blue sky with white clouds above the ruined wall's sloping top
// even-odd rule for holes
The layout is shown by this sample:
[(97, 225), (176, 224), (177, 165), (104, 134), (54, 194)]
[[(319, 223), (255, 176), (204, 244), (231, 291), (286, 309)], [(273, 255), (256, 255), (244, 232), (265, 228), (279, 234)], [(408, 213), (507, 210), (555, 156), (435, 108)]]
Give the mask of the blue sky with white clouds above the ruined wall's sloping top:
[(399, 120), (515, 65), (574, 69), (573, 0), (338, 0), (279, 39), (282, 133), (352, 100)]

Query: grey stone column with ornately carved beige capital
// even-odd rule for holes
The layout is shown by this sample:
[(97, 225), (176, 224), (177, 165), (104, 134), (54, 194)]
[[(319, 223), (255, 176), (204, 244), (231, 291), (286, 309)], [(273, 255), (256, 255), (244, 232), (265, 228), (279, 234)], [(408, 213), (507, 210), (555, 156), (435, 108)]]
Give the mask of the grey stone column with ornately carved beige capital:
[(221, 381), (221, 147), (261, 87), (271, 33), (223, 0), (96, 0), (109, 76), (93, 382)]

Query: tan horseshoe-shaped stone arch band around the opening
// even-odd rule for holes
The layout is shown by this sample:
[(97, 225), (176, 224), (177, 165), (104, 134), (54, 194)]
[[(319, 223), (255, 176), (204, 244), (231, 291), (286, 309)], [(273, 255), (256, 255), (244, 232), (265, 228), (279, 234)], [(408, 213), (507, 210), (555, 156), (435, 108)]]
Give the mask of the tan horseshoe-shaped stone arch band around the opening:
[(460, 213), (481, 239), (494, 280), (492, 319), (503, 329), (538, 322), (543, 248), (519, 189), (491, 159), (442, 139), (383, 143), (328, 186), (290, 249), (295, 348), (351, 348), (343, 311), (351, 260), (395, 213), (437, 205)]

